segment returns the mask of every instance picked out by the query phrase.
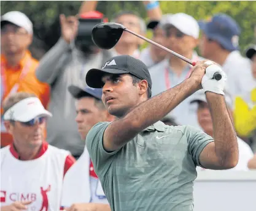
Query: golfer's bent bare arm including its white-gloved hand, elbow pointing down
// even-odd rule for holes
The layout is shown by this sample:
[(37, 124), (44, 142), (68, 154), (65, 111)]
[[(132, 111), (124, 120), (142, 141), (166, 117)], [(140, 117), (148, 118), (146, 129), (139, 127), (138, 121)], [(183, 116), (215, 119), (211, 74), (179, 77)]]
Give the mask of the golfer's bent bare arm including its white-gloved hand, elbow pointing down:
[[(227, 77), (223, 73), (225, 77), (222, 80), (209, 80), (211, 76), (208, 78), (207, 74), (213, 75), (215, 70), (214, 68), (212, 72), (206, 70), (206, 76), (202, 80), (212, 117), (214, 143), (209, 143), (204, 147), (200, 154), (200, 164), (209, 169), (230, 169), (238, 164), (238, 140), (223, 92)], [(221, 69), (219, 71), (222, 72)]]

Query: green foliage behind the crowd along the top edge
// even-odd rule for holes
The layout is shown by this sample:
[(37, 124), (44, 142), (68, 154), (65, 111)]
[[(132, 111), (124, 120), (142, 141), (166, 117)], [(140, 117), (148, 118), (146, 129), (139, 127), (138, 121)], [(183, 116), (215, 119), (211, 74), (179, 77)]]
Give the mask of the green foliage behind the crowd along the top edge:
[[(1, 14), (12, 10), (26, 13), (34, 24), (34, 46), (45, 52), (60, 37), (60, 13), (76, 15), (81, 3), (82, 1), (1, 1)], [(163, 14), (184, 12), (196, 20), (203, 20), (215, 13), (227, 13), (241, 27), (241, 50), (254, 40), (255, 1), (160, 1), (160, 7)], [(147, 20), (141, 1), (99, 1), (97, 10), (103, 12), (109, 20), (120, 10), (133, 10)]]

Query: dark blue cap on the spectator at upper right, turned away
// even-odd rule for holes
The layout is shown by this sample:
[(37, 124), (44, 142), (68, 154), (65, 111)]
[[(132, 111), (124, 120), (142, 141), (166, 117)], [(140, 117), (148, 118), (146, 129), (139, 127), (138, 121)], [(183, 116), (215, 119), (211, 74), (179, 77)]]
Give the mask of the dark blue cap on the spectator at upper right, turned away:
[(241, 29), (233, 18), (219, 13), (209, 21), (200, 21), (199, 26), (209, 39), (215, 40), (229, 51), (239, 49), (238, 40)]

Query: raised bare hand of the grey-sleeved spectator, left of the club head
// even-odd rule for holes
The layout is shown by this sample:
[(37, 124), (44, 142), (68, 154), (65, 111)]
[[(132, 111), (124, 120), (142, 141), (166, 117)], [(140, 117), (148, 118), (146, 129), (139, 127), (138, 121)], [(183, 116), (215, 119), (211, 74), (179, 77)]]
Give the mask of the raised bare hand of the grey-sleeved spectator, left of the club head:
[(66, 18), (65, 15), (61, 14), (60, 24), (61, 36), (67, 43), (70, 43), (77, 35), (79, 21), (76, 17), (70, 16)]

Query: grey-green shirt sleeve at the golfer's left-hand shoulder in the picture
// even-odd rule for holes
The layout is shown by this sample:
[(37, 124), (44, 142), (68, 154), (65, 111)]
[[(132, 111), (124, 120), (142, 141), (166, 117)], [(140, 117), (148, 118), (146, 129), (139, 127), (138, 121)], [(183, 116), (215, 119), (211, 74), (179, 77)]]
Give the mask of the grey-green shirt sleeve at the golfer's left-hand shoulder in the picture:
[(86, 146), (89, 152), (93, 167), (98, 176), (104, 176), (111, 165), (114, 155), (118, 152), (107, 152), (103, 147), (103, 135), (111, 122), (99, 122), (89, 131), (86, 138)]

